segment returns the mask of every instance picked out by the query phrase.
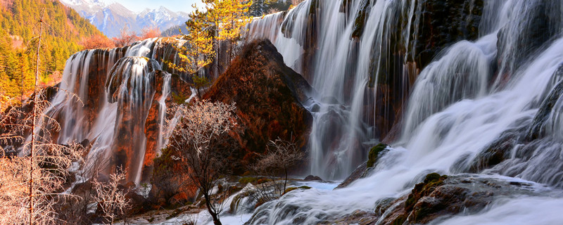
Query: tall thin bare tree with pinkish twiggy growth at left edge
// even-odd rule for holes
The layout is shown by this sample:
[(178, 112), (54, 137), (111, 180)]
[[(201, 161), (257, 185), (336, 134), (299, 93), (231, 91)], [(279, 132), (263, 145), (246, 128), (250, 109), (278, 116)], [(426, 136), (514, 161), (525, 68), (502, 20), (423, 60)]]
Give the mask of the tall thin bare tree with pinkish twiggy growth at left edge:
[(72, 163), (82, 161), (79, 144), (53, 143), (53, 134), (60, 130), (60, 125), (44, 113), (52, 105), (46, 90), (38, 85), (43, 24), (42, 16), (39, 37), (34, 38), (37, 65), (32, 97), (25, 107), (12, 107), (0, 113), (0, 144), (19, 147), (17, 154), (6, 154), (1, 149), (1, 224), (61, 224), (55, 205), (74, 197), (64, 192), (63, 184)]

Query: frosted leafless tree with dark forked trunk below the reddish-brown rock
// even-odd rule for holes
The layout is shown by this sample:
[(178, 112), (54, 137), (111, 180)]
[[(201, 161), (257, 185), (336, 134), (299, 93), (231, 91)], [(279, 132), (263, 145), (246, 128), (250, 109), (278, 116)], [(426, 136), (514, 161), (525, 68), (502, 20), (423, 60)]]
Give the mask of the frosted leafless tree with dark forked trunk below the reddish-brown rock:
[(179, 105), (178, 110), (182, 118), (172, 131), (168, 148), (176, 151), (175, 160), (185, 165), (184, 172), (205, 198), (213, 223), (220, 225), (219, 214), (224, 209), (226, 194), (213, 195), (213, 188), (231, 166), (228, 157), (232, 148), (222, 147), (229, 139), (229, 131), (237, 126), (236, 107), (234, 103), (199, 101), (189, 108)]

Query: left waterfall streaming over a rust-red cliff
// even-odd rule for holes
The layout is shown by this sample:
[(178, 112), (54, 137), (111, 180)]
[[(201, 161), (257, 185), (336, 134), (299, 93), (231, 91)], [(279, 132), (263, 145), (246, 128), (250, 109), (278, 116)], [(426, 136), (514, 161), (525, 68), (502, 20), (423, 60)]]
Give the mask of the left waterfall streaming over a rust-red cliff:
[[(165, 127), (172, 75), (160, 70), (163, 61), (175, 55), (170, 43), (177, 42), (146, 39), (122, 48), (81, 51), (67, 60), (61, 91), (46, 113), (61, 121), (58, 143), (82, 141), (91, 145), (84, 170), (97, 167), (110, 172), (123, 166), (127, 181), (145, 181), (144, 169), (151, 164), (146, 161), (159, 154), (167, 139), (160, 134)], [(80, 101), (69, 99), (70, 93)], [(156, 115), (154, 121), (148, 121), (151, 114)], [(155, 140), (149, 140), (147, 132), (155, 132), (151, 134)]]

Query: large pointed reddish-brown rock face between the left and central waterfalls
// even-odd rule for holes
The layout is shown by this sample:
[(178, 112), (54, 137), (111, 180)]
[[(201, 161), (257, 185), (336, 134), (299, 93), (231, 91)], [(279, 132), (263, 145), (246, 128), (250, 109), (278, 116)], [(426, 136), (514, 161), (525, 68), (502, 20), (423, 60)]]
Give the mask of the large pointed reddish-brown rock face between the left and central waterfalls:
[(244, 47), (203, 98), (236, 103), (236, 115), (243, 125), (237, 158), (244, 164), (278, 137), (294, 139), (300, 148), (306, 146), (312, 116), (302, 103), (312, 92), (308, 82), (284, 64), (269, 40), (255, 40)]

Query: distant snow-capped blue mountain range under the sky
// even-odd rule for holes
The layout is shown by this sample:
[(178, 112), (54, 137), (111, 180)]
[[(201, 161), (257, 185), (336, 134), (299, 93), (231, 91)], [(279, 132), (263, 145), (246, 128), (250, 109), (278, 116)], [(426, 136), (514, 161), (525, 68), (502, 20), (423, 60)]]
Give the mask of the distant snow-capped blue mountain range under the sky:
[(160, 31), (165, 31), (188, 20), (188, 13), (173, 12), (163, 6), (135, 13), (121, 4), (104, 4), (100, 0), (59, 1), (75, 9), (108, 37), (119, 36), (124, 27), (137, 33), (144, 27), (158, 27)]

